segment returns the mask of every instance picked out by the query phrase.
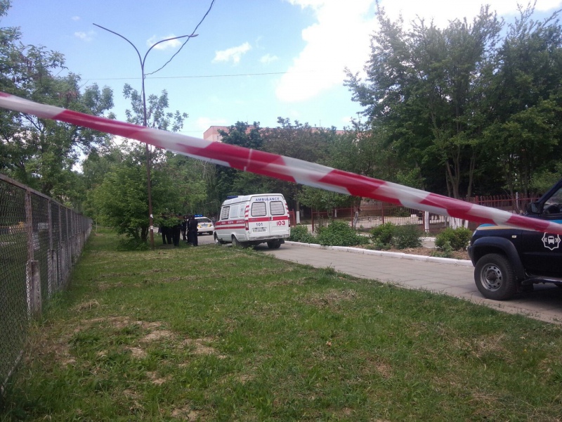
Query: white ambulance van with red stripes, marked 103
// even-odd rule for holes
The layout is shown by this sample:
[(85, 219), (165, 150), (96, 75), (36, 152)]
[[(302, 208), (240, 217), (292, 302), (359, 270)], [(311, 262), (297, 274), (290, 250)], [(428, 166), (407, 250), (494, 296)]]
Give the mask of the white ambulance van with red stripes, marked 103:
[(215, 222), (215, 243), (237, 246), (267, 243), (277, 249), (291, 236), (289, 208), (280, 193), (229, 197)]

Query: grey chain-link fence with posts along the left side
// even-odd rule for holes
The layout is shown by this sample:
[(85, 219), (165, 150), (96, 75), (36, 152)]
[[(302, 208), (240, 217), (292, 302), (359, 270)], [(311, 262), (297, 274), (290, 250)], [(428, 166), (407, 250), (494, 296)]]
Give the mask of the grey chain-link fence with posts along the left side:
[(30, 319), (65, 288), (90, 231), (91, 219), (0, 174), (0, 391)]

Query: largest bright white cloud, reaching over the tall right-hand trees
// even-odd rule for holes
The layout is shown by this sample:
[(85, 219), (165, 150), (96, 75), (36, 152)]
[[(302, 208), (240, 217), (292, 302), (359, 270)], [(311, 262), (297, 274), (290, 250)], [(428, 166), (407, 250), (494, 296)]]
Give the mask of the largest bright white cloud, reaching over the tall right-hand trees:
[[(286, 0), (294, 6), (311, 8), (316, 22), (302, 30), (306, 46), (293, 59), (280, 78), (276, 94), (281, 101), (305, 101), (345, 79), (344, 68), (360, 72), (370, 54), (370, 34), (376, 29), (374, 0)], [(388, 17), (396, 20), (402, 13), (405, 24), (417, 18), (444, 27), (449, 20), (471, 20), (483, 3), (499, 15), (517, 13), (518, 0), (380, 0)], [(536, 11), (554, 11), (562, 0), (537, 0)]]

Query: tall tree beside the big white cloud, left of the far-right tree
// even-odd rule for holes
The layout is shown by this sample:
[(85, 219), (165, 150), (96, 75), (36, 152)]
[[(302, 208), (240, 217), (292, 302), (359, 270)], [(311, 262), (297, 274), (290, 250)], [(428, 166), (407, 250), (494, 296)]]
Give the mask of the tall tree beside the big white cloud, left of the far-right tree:
[(445, 183), (431, 188), (469, 195), (483, 140), (479, 99), (492, 75), (501, 23), (488, 7), (471, 24), (454, 20), (445, 30), (418, 20), (406, 32), (380, 6), (377, 20), (367, 81), (348, 72), (353, 99), (407, 167), (433, 179), (440, 165)]

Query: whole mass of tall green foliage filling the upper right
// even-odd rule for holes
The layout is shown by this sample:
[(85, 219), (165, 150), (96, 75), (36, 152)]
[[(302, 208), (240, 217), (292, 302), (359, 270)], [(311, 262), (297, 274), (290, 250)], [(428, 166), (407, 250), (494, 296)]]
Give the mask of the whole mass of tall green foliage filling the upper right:
[(530, 2), (503, 21), (483, 6), (440, 28), (377, 9), (367, 77), (348, 72), (346, 84), (379, 177), (455, 198), (544, 186), (535, 174), (554, 173), (562, 154), (560, 12), (534, 20)]

